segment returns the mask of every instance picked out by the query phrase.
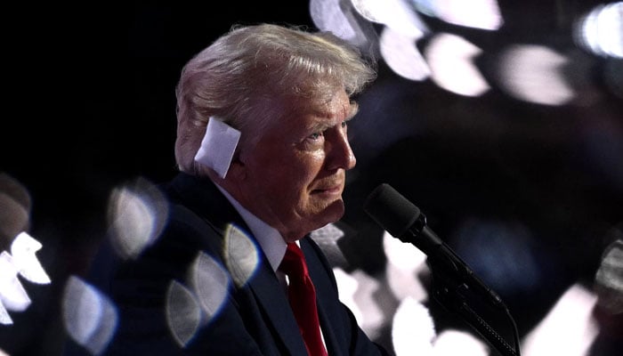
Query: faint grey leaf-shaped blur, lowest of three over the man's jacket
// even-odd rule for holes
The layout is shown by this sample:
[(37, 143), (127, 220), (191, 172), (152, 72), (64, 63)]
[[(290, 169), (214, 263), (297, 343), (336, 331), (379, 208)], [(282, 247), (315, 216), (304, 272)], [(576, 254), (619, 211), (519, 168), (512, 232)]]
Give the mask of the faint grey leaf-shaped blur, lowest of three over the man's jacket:
[(172, 281), (166, 290), (166, 321), (175, 341), (184, 347), (197, 333), (201, 309), (190, 290)]

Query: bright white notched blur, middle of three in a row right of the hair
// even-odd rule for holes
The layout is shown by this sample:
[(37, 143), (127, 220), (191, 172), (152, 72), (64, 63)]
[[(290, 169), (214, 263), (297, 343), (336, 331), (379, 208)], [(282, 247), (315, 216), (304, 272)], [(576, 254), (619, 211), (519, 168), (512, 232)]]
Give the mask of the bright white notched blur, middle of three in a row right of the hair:
[(432, 79), (441, 88), (465, 96), (479, 96), (490, 89), (480, 70), (473, 63), (482, 53), (464, 38), (439, 34), (426, 46), (425, 59), (432, 70)]

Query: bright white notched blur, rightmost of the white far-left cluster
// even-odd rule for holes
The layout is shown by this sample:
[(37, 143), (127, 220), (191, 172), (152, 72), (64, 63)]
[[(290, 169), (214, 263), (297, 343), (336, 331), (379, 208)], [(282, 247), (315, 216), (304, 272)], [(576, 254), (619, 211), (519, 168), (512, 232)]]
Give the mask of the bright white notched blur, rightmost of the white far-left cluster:
[(43, 266), (36, 258), (36, 251), (43, 245), (33, 239), (28, 233), (20, 232), (11, 244), (11, 255), (15, 267), (25, 279), (37, 284), (49, 284), (50, 277), (45, 273)]

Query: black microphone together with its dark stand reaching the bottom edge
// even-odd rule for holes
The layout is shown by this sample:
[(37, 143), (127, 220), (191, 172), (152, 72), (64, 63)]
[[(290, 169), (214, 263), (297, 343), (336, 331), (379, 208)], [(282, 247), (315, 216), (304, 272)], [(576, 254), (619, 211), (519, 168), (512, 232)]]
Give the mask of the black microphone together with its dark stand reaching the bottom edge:
[[(502, 299), (428, 227), (426, 215), (417, 206), (391, 186), (382, 184), (368, 196), (364, 210), (393, 237), (414, 245), (428, 256), (433, 296), (441, 306), (456, 313), (503, 356), (520, 356), (517, 326)], [(500, 316), (510, 321), (514, 347), (506, 343), (480, 311), (490, 312), (488, 316), (493, 313), (497, 321)]]

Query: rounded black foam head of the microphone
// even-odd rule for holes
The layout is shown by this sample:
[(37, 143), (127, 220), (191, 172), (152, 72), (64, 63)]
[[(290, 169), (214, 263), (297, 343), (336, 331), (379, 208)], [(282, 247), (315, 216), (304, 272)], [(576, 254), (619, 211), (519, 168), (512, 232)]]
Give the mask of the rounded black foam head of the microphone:
[(420, 216), (420, 209), (387, 183), (372, 190), (363, 203), (363, 210), (397, 239), (401, 239)]

